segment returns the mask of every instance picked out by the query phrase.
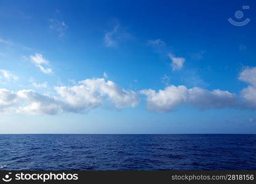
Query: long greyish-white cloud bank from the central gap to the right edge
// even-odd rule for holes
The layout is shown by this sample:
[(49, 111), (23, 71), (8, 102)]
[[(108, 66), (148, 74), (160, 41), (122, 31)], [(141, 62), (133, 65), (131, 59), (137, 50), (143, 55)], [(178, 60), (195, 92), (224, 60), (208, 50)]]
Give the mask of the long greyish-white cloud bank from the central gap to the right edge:
[(222, 90), (204, 90), (199, 87), (170, 85), (164, 90), (141, 90), (146, 95), (148, 109), (154, 112), (169, 112), (178, 105), (188, 104), (199, 109), (255, 109), (256, 108), (256, 67), (246, 67), (238, 77), (239, 80), (249, 83), (241, 90), (241, 95)]

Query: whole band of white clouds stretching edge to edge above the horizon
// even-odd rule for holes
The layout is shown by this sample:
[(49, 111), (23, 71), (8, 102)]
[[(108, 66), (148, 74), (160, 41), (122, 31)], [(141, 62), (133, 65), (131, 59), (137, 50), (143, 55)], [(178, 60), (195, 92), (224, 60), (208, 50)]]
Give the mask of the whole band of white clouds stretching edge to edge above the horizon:
[[(6, 74), (9, 72), (5, 71)], [(171, 112), (179, 105), (199, 109), (255, 109), (256, 67), (246, 67), (238, 77), (249, 85), (240, 94), (223, 90), (205, 90), (197, 86), (169, 85), (163, 90), (126, 90), (105, 78), (86, 79), (73, 86), (55, 86), (56, 95), (40, 94), (34, 90), (17, 92), (0, 89), (0, 112), (56, 115), (63, 112), (83, 113), (104, 104), (116, 109), (136, 107), (146, 96), (147, 108), (153, 112)]]

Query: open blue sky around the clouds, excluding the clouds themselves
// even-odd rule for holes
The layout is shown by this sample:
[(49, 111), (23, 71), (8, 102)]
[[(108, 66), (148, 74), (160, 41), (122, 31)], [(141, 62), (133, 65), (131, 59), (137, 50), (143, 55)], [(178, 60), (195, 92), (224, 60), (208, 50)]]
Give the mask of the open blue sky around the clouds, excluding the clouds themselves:
[[(249, 10), (242, 10), (249, 5)], [(242, 10), (246, 26), (228, 23)], [(50, 29), (50, 20), (64, 21), (65, 30)], [(138, 91), (164, 89), (169, 84), (227, 90), (239, 94), (247, 84), (238, 80), (246, 66), (256, 66), (255, 1), (0, 1), (0, 69), (18, 75), (17, 83), (0, 88), (32, 88), (29, 80), (54, 86), (103, 77)], [(114, 47), (104, 36), (123, 35)], [(59, 36), (63, 33), (64, 36)], [(148, 44), (161, 39), (162, 47)], [(42, 53), (54, 74), (39, 72), (26, 56)], [(186, 59), (172, 71), (168, 53)], [(43, 89), (38, 89), (46, 93)], [(49, 92), (49, 91), (47, 91)], [(50, 93), (54, 93), (50, 90)], [(255, 110), (200, 110), (182, 105), (172, 112), (135, 108), (98, 108), (60, 115), (2, 114), (0, 133), (254, 133)]]

